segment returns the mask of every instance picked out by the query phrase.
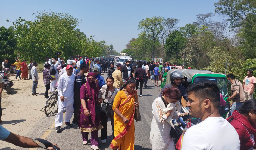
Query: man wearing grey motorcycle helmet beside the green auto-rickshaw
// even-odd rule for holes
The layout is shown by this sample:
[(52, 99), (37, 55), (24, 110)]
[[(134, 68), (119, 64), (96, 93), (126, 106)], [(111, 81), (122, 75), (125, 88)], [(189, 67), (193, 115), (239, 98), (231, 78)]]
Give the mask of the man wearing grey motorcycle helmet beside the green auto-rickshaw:
[[(181, 96), (183, 96), (183, 98), (188, 101), (188, 94), (186, 92), (186, 89), (184, 86), (181, 85), (181, 81), (183, 80), (184, 76), (182, 73), (178, 72), (178, 71), (173, 71), (171, 74), (170, 74), (170, 80), (171, 80), (171, 83), (170, 84), (167, 84), (165, 85), (160, 94), (159, 94), (159, 97), (162, 96), (162, 92), (167, 89), (167, 88), (178, 88), (180, 90), (180, 94)], [(180, 100), (180, 103), (181, 103), (181, 100)]]

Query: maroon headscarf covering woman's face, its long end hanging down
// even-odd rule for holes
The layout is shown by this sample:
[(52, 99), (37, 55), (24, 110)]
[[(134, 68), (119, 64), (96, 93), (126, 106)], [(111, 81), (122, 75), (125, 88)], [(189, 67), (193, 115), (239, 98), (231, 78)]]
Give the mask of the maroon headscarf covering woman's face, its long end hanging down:
[[(92, 102), (93, 102), (93, 103), (91, 103), (91, 108), (95, 108), (95, 105), (97, 105), (97, 98), (98, 98), (98, 94), (99, 94), (99, 85), (94, 80), (89, 79), (88, 78), (89, 76), (92, 76), (94, 78), (96, 78), (96, 77), (93, 72), (90, 72), (87, 75), (87, 81), (86, 81), (87, 95), (89, 98), (92, 98)], [(94, 124), (94, 122), (96, 120), (95, 109), (91, 109), (90, 116), (91, 116), (92, 122)]]

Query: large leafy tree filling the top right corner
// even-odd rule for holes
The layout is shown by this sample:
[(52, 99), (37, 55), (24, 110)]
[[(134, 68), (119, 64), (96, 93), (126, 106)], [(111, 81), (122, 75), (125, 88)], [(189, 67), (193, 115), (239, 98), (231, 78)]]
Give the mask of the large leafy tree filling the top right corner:
[(219, 0), (215, 12), (228, 17), (230, 27), (241, 28), (241, 51), (246, 57), (256, 57), (256, 2), (255, 0)]

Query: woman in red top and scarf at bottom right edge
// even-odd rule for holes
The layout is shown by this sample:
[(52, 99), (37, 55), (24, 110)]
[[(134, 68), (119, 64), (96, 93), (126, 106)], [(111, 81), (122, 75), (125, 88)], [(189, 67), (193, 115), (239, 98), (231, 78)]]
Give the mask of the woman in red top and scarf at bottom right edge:
[(234, 110), (227, 120), (239, 135), (240, 150), (256, 148), (256, 99), (246, 101), (239, 111)]

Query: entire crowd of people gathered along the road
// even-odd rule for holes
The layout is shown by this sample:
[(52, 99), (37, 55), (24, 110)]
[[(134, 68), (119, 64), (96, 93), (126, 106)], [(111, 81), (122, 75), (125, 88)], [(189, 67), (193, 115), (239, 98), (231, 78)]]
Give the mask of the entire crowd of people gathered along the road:
[[(110, 148), (134, 150), (134, 122), (141, 120), (138, 98), (143, 96), (143, 89), (148, 88), (148, 79), (153, 81), (154, 86), (159, 87), (148, 90), (160, 91), (159, 97), (152, 103), (151, 132), (150, 137), (146, 137), (149, 138), (153, 150), (255, 148), (256, 99), (253, 99), (253, 91), (256, 79), (252, 76), (252, 70), (248, 70), (243, 84), (236, 80), (233, 74), (226, 76), (231, 84), (229, 101), (232, 100), (232, 106), (229, 118), (224, 119), (219, 114), (219, 106), (225, 105), (226, 101), (215, 82), (211, 80), (194, 82), (185, 89), (181, 85), (184, 75), (177, 71), (170, 75), (170, 84), (166, 84), (167, 72), (172, 69), (185, 69), (184, 66), (160, 61), (126, 60), (124, 65), (116, 64), (117, 69), (114, 69), (114, 59), (105, 61), (104, 58), (76, 56), (65, 62), (59, 56), (58, 53), (56, 59), (47, 58), (44, 64), (43, 82), (46, 87), (44, 97), (48, 99), (49, 90), (54, 92), (56, 87), (59, 95), (58, 113), (55, 117), (56, 131), (61, 131), (63, 113), (66, 110), (64, 124), (68, 127), (76, 125), (80, 128), (81, 143), (84, 145), (88, 144), (90, 132), (91, 149), (99, 149), (99, 130), (101, 130), (101, 143), (107, 143), (109, 118), (113, 138)], [(32, 95), (38, 95), (36, 93), (39, 82), (37, 62), (30, 60), (27, 66), (26, 60), (21, 63), (18, 57), (13, 64), (10, 64), (7, 59), (4, 61), (3, 70), (5, 68), (10, 70), (11, 66), (16, 65), (17, 76), (14, 79), (17, 77), (30, 79), (31, 76)], [(31, 74), (29, 77), (28, 70)], [(102, 76), (103, 71), (107, 72), (106, 80)], [(3, 82), (0, 76), (0, 102)], [(139, 93), (137, 93), (138, 89), (140, 89)], [(186, 113), (181, 112), (182, 97), (186, 101), (186, 107), (189, 108)], [(70, 122), (73, 113), (74, 118)], [(201, 122), (186, 128), (186, 133), (184, 130), (182, 138), (174, 143), (173, 134), (171, 134), (173, 129), (175, 130), (173, 119), (179, 119), (188, 114), (200, 119)], [(1, 116), (0, 105), (0, 120)], [(38, 147), (30, 138), (10, 133), (1, 125), (0, 140), (21, 147)], [(177, 146), (179, 144), (180, 147)], [(54, 145), (57, 146), (56, 143)]]

